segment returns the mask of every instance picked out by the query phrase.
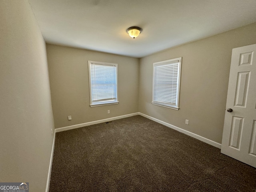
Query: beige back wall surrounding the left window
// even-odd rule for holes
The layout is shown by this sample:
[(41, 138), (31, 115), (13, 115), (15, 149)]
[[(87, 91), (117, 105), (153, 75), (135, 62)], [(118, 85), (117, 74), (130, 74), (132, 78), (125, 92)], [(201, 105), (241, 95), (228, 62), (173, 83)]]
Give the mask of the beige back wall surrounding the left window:
[[(55, 128), (138, 112), (138, 59), (51, 44), (46, 50)], [(90, 107), (88, 60), (118, 64), (119, 104)]]

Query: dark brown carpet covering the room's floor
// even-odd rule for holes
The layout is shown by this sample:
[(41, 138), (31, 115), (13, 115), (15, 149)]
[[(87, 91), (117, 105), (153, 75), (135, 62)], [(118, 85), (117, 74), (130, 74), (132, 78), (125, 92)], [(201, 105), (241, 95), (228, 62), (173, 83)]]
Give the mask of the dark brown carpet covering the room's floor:
[(56, 133), (50, 192), (255, 189), (255, 168), (142, 116)]

